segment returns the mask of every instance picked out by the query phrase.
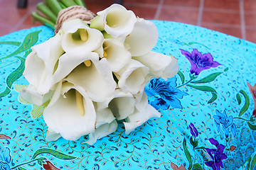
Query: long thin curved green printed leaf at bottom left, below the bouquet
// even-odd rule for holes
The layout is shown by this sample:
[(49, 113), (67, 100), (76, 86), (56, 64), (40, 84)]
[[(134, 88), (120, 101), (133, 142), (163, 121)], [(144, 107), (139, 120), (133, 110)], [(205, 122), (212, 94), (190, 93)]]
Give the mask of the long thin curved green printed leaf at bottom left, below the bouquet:
[(35, 159), (39, 154), (51, 154), (53, 157), (56, 157), (58, 159), (63, 159), (63, 160), (70, 160), (70, 159), (75, 159), (76, 157), (70, 156), (68, 154), (63, 154), (63, 152), (59, 152), (55, 149), (49, 149), (49, 148), (41, 148), (38, 149), (34, 154), (32, 159)]

